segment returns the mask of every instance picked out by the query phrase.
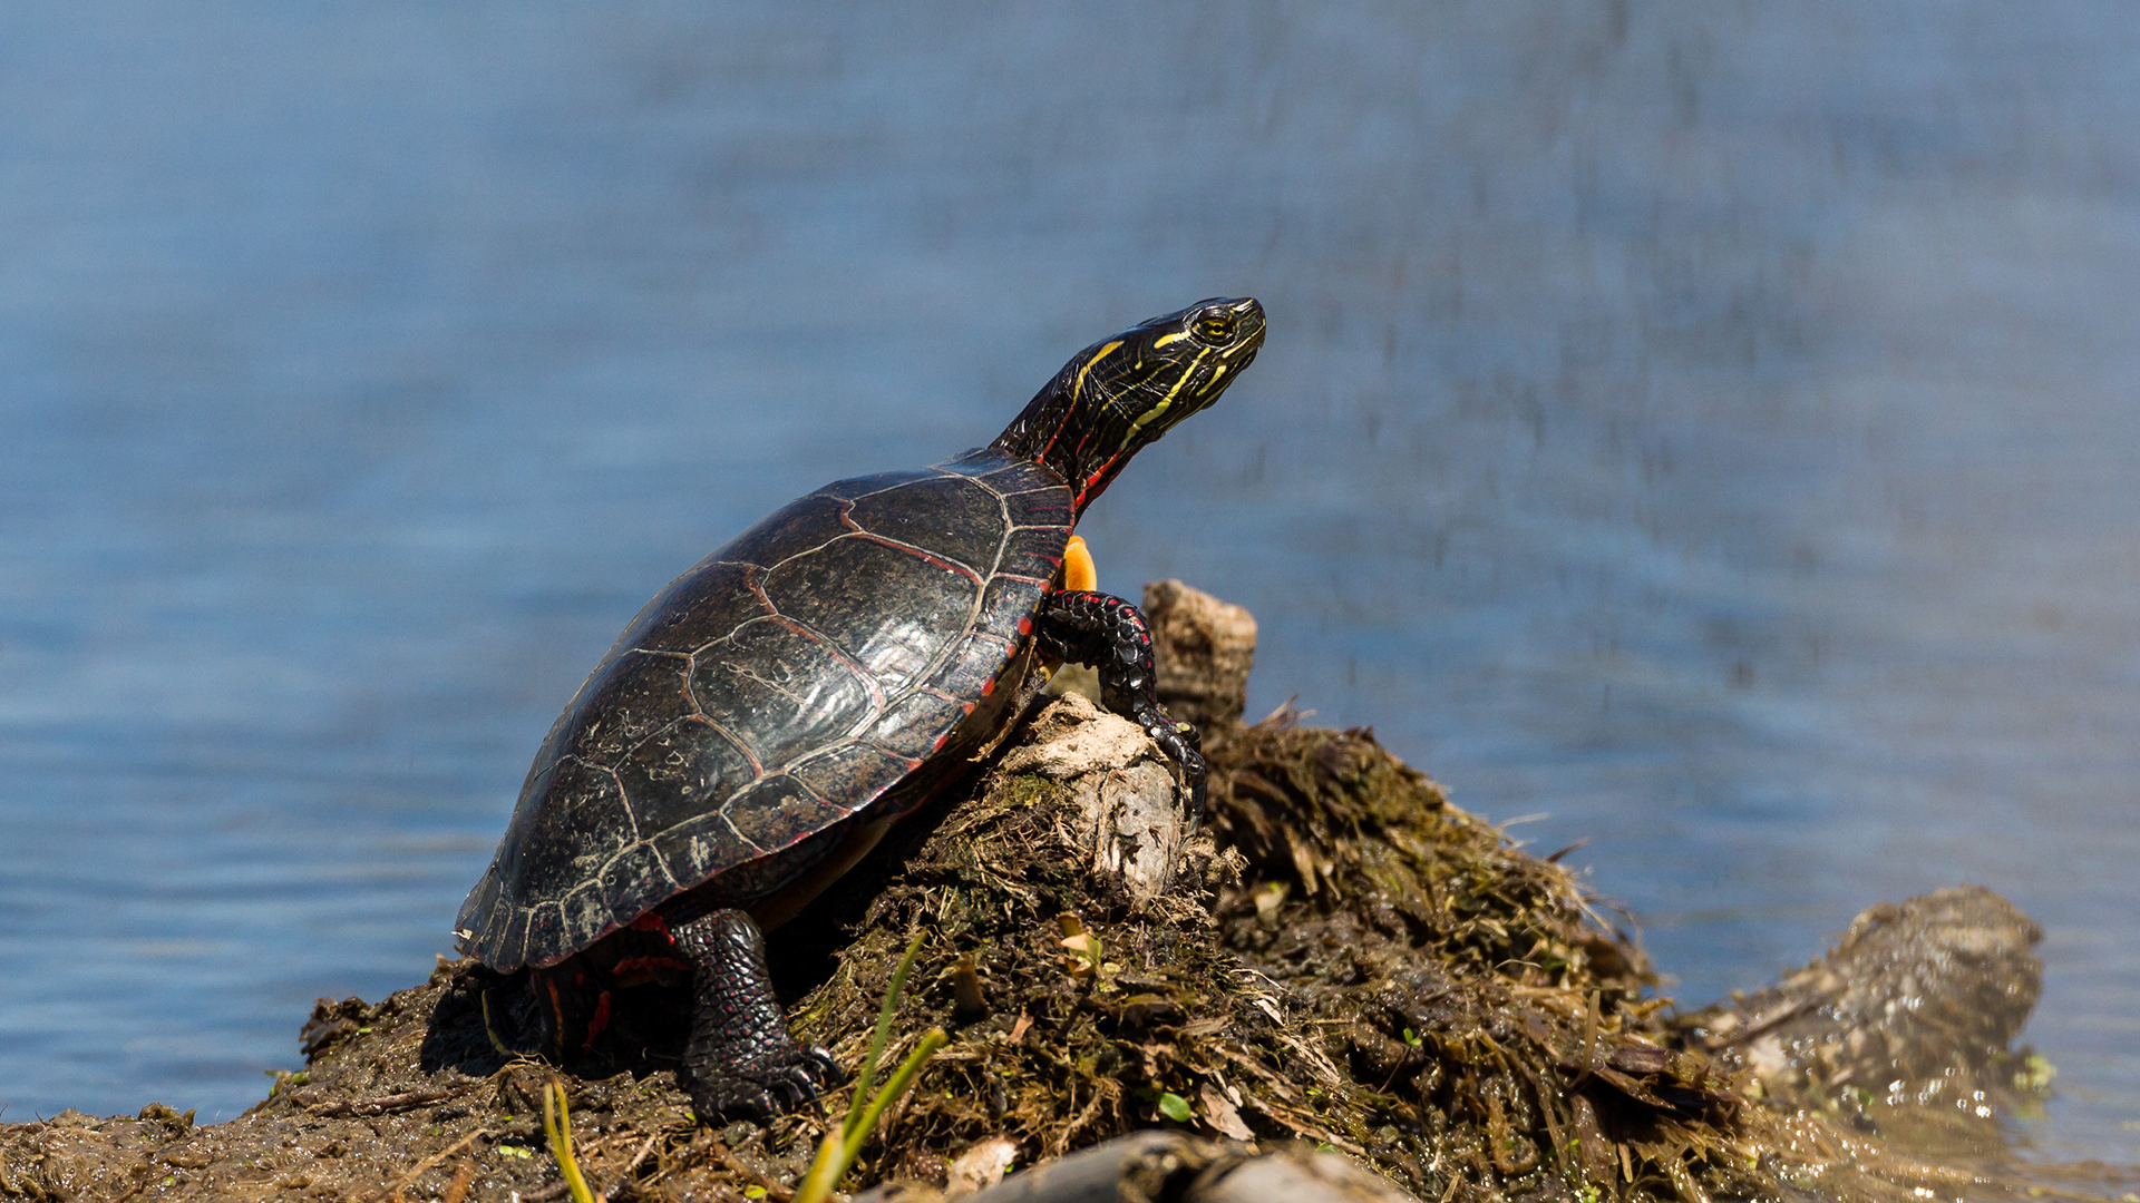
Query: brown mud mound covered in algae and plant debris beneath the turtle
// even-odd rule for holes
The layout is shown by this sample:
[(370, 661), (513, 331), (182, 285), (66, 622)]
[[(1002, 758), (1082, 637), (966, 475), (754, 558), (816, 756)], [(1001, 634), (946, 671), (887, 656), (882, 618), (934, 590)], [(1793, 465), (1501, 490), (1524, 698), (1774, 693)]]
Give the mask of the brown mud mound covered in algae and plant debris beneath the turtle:
[[(1239, 640), (1203, 646), (1245, 672)], [(1239, 689), (1201, 696), (1218, 698), (1201, 715), (1205, 833), (1164, 831), (1179, 811), (1149, 743), (1057, 698), (775, 940), (796, 1034), (852, 1066), (922, 935), (884, 1060), (931, 1025), (950, 1045), (850, 1188), (944, 1184), (976, 1149), (999, 1173), (1006, 1147), (1031, 1164), (1181, 1128), (1342, 1149), (1440, 1203), (2116, 1194), (2112, 1179), (2046, 1186), (1911, 1160), (1840, 1109), (1832, 1081), (1753, 1090), (1740, 1060), (1703, 1051), (1731, 1055), (1716, 1042), (1729, 1023), (1673, 1025), (1639, 948), (1562, 867), (1449, 805), (1367, 730), (1290, 713), (1243, 728)], [(657, 993), (574, 1075), (507, 1060), (484, 1032), (484, 983), (473, 963), (441, 963), (377, 1006), (323, 1002), (302, 1079), (231, 1124), (68, 1113), (4, 1128), (0, 1192), (559, 1199), (539, 1117), (561, 1077), (597, 1192), (781, 1201), (839, 1122), (700, 1128), (672, 1072), (681, 1008)], [(2012, 1077), (2003, 1049), (1982, 1045), (1971, 1072)]]

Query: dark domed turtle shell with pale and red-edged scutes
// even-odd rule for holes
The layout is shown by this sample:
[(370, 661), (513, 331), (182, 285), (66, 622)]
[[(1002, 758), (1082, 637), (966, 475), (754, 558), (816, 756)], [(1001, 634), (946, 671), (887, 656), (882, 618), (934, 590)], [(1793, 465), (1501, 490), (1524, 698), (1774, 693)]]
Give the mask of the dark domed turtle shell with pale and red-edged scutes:
[(978, 450), (828, 484), (678, 576), (535, 753), (462, 950), (552, 965), (704, 882), (779, 882), (946, 743), (993, 734), (1008, 715), (980, 702), (1021, 661), (1070, 501)]

